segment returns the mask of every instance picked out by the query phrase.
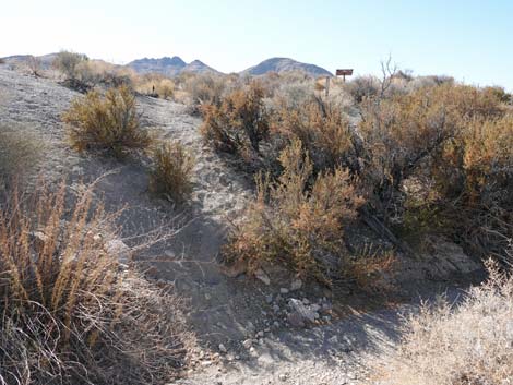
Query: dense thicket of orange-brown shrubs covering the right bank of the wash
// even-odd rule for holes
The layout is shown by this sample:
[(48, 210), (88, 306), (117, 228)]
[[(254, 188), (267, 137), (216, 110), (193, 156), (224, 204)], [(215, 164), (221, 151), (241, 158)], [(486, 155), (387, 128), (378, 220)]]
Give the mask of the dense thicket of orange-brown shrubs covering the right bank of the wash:
[[(260, 172), (255, 202), (227, 248), (229, 260), (237, 253), (240, 258), (288, 255), (294, 268), (312, 268), (319, 276), (312, 255), (326, 263), (332, 260), (323, 249), (326, 240), (344, 244), (346, 219), (333, 209), (344, 212), (347, 205), (342, 217), (350, 212), (348, 217), (372, 222), (403, 251), (411, 251), (406, 243), (414, 238), (437, 233), (473, 255), (504, 256), (513, 237), (513, 124), (504, 92), (443, 76), (415, 77), (390, 61), (381, 79), (333, 83), (326, 97), (311, 80), (284, 85), (270, 74), (203, 105), (205, 141)], [(302, 165), (294, 178), (293, 164)], [(320, 203), (322, 189), (336, 191), (339, 201)], [(318, 209), (311, 208), (314, 201)], [(288, 219), (275, 222), (285, 212)], [(300, 228), (307, 212), (319, 215), (306, 220), (310, 224), (327, 218), (336, 224), (333, 231), (320, 225), (330, 233), (322, 242), (312, 240), (319, 233), (313, 229), (305, 229), (312, 237), (301, 241), (289, 232)], [(287, 243), (295, 239), (309, 255), (301, 263)], [(342, 250), (335, 254), (346, 254)]]

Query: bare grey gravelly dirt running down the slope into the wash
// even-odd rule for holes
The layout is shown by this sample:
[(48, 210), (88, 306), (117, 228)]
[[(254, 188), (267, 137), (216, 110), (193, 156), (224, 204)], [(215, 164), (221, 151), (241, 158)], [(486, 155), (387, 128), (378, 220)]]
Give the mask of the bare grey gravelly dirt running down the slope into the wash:
[[(366, 358), (394, 346), (399, 313), (415, 305), (334, 323), (324, 316), (321, 326), (290, 328), (287, 301), (323, 294), (312, 293), (311, 288), (289, 290), (287, 280), (265, 286), (220, 272), (217, 258), (228, 221), (241, 214), (251, 191), (247, 180), (203, 145), (201, 120), (187, 115), (182, 105), (138, 97), (144, 125), (180, 141), (196, 158), (192, 201), (188, 207), (177, 208), (148, 194), (146, 166), (70, 149), (60, 115), (79, 95), (51, 80), (21, 75), (0, 65), (0, 123), (23, 124), (40, 137), (46, 148), (40, 170), (48, 178), (67, 175), (73, 184), (116, 171), (102, 179), (97, 195), (109, 210), (126, 207), (120, 225), (129, 244), (138, 234), (158, 228), (172, 231), (184, 225), (176, 237), (138, 256), (151, 278), (172, 282), (189, 299), (189, 321), (200, 348), (194, 373), (177, 384), (341, 385), (366, 378)], [(321, 305), (330, 309), (329, 302)]]

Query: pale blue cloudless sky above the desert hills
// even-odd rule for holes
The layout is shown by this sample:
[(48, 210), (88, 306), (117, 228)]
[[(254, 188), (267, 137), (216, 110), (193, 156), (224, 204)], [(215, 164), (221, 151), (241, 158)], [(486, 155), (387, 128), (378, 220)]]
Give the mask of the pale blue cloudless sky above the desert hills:
[(200, 59), (224, 72), (275, 56), (513, 89), (513, 1), (3, 0), (0, 56), (72, 49), (117, 63)]

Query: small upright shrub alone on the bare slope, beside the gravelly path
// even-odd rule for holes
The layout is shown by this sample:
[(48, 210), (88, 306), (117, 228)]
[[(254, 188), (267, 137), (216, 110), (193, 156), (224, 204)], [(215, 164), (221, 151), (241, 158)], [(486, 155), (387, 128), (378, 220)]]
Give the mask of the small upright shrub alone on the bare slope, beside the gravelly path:
[(172, 202), (182, 203), (192, 192), (194, 159), (179, 142), (160, 143), (153, 152), (150, 189)]

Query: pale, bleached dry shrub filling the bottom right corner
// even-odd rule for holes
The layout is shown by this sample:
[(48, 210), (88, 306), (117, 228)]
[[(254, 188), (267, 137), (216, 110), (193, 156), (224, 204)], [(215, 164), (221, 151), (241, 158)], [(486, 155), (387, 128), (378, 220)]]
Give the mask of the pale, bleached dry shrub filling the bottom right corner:
[(406, 337), (383, 384), (509, 384), (513, 378), (513, 276), (489, 263), (490, 278), (456, 306), (425, 305), (409, 318)]

